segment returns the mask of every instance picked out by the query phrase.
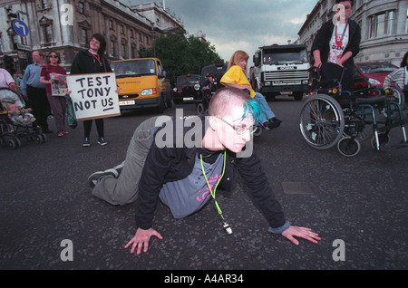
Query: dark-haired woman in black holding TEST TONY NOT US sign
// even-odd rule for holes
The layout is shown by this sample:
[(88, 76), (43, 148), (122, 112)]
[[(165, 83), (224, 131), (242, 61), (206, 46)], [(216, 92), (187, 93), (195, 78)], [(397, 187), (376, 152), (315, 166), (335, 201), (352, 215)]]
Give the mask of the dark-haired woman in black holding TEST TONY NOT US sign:
[[(105, 53), (106, 41), (102, 34), (93, 34), (89, 42), (89, 49), (80, 51), (73, 59), (71, 74), (87, 74), (112, 72), (108, 60), (103, 55)], [(118, 88), (119, 89), (119, 88)], [(98, 131), (98, 144), (106, 145), (103, 132), (103, 119), (95, 119), (96, 130)], [(83, 146), (90, 146), (90, 135), (92, 129), (92, 120), (83, 121), (84, 139)]]

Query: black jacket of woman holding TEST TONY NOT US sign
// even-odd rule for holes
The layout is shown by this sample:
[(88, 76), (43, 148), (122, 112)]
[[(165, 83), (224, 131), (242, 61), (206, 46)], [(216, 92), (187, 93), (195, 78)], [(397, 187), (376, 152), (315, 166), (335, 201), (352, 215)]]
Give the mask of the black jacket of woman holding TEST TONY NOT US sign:
[(101, 63), (88, 50), (80, 51), (73, 58), (71, 74), (88, 74), (112, 72), (111, 66), (104, 55), (100, 55)]

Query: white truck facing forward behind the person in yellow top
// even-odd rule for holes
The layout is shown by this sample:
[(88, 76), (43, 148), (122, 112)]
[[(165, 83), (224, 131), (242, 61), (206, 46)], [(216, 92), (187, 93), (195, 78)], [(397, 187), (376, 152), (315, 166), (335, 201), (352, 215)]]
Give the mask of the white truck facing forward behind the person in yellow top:
[(253, 61), (250, 80), (254, 90), (267, 99), (281, 94), (300, 101), (308, 92), (310, 64), (306, 45), (259, 47)]

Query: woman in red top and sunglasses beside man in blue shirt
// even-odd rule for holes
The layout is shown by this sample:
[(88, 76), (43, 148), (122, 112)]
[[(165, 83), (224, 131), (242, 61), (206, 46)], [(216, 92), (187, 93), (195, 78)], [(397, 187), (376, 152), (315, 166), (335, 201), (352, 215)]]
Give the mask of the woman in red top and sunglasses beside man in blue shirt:
[(66, 72), (63, 67), (58, 65), (61, 61), (60, 56), (56, 52), (50, 52), (47, 58), (48, 64), (44, 65), (41, 70), (40, 82), (45, 84), (45, 91), (47, 92), (47, 99), (50, 103), (51, 110), (53, 111), (53, 118), (58, 130), (58, 137), (63, 137), (63, 135), (68, 134), (65, 130), (66, 101), (65, 97), (63, 97), (64, 94), (56, 95), (53, 93), (52, 85), (58, 83), (58, 80), (56, 80), (53, 75), (65, 75)]

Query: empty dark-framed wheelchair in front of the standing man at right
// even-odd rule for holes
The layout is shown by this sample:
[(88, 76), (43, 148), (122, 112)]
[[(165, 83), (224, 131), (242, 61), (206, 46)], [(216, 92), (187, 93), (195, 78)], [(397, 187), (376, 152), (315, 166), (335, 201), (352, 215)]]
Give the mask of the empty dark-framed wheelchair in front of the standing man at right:
[[(325, 69), (340, 69), (340, 66), (325, 63)], [(359, 91), (342, 91), (344, 70), (337, 72), (338, 78), (322, 79), (320, 72), (311, 71), (314, 88), (305, 101), (299, 117), (300, 131), (314, 149), (330, 149), (337, 146), (347, 157), (355, 156), (361, 149), (360, 142), (371, 138), (372, 148), (381, 150), (389, 143), (389, 132), (400, 127), (403, 133), (401, 146), (406, 146), (402, 107), (392, 95), (364, 97), (370, 87)]]

